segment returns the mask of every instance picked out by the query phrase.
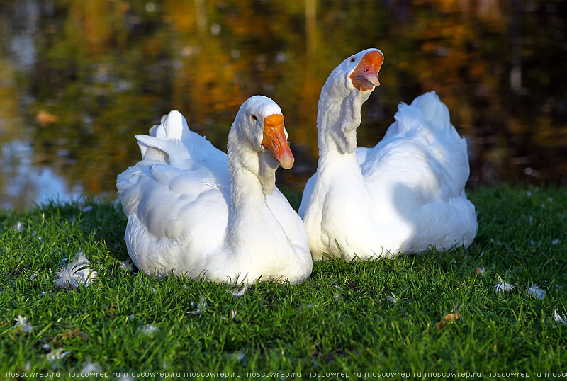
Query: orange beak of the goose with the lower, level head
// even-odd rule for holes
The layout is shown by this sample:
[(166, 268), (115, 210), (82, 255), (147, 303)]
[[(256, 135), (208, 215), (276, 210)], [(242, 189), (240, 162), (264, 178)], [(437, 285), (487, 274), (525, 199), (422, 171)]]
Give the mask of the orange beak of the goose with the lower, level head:
[(274, 155), (283, 169), (290, 169), (293, 166), (296, 159), (293, 159), (293, 154), (289, 148), (282, 115), (274, 114), (264, 118), (262, 147)]

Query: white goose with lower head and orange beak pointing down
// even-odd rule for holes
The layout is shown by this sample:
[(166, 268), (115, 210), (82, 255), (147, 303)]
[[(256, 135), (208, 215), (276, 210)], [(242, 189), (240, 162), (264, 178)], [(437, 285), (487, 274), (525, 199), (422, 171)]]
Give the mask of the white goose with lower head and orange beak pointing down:
[(142, 161), (116, 181), (137, 268), (219, 283), (308, 278), (305, 226), (275, 186), (278, 166), (289, 169), (294, 159), (274, 101), (253, 96), (242, 104), (228, 160), (176, 110), (150, 135), (136, 136)]

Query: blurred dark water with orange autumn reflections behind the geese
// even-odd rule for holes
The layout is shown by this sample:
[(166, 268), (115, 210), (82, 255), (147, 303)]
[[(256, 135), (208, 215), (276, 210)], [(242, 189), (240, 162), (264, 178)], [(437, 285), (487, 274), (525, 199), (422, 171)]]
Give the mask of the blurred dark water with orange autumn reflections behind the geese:
[(322, 84), (379, 47), (363, 109), (374, 145), (400, 101), (435, 90), (467, 137), (469, 186), (567, 174), (565, 1), (0, 1), (0, 207), (58, 193), (114, 195), (145, 133), (172, 108), (224, 149), (246, 98), (274, 98), (302, 187), (317, 161)]

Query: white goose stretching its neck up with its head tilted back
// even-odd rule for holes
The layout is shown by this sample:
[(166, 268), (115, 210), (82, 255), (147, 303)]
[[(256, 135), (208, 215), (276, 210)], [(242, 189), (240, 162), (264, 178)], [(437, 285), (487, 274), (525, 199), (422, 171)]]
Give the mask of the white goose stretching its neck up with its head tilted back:
[(478, 224), (467, 200), (466, 141), (433, 91), (410, 106), (374, 148), (357, 149), (361, 106), (383, 62), (368, 49), (339, 64), (319, 98), (319, 163), (305, 185), (299, 215), (314, 259), (323, 254), (391, 258), (436, 246), (468, 246)]

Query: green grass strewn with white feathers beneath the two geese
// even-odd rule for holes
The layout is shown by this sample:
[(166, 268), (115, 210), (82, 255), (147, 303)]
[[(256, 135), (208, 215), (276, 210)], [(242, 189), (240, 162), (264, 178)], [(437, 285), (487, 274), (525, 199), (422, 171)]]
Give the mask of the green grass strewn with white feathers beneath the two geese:
[[(498, 186), (469, 198), (479, 232), (466, 250), (318, 262), (301, 285), (263, 283), (242, 297), (227, 285), (123, 268), (125, 218), (111, 203), (0, 212), (0, 379), (55, 370), (77, 380), (64, 372), (89, 362), (110, 374), (147, 372), (138, 380), (160, 378), (150, 372), (320, 372), (321, 380), (336, 372), (431, 379), (426, 372), (459, 371), (493, 380), (500, 377), (484, 372), (566, 372), (567, 326), (553, 313), (567, 313), (567, 188)], [(89, 288), (55, 288), (57, 270), (79, 251), (98, 278)], [(500, 278), (515, 289), (496, 295)], [(527, 294), (532, 283), (546, 290), (543, 300)], [(201, 314), (188, 313), (199, 304)], [(461, 318), (440, 328), (458, 310)], [(14, 328), (18, 315), (33, 331)], [(147, 324), (157, 331), (143, 333)], [(51, 363), (44, 347), (70, 353)]]

